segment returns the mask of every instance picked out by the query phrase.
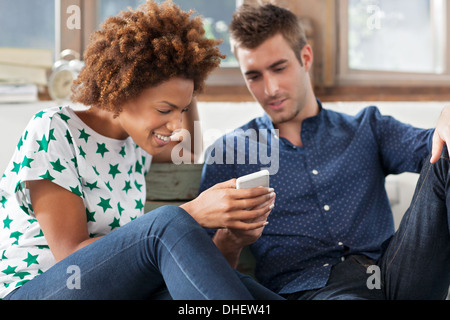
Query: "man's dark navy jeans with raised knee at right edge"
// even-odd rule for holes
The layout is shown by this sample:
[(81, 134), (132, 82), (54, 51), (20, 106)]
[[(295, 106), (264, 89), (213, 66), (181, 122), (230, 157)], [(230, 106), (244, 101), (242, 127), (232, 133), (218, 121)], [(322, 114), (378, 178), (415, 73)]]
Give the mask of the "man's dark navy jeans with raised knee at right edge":
[[(397, 232), (378, 261), (349, 256), (332, 268), (324, 288), (288, 299), (445, 299), (450, 285), (450, 162), (447, 149), (436, 164), (426, 159), (411, 202)], [(368, 286), (379, 270), (380, 287)], [(369, 287), (372, 287), (371, 289)]]

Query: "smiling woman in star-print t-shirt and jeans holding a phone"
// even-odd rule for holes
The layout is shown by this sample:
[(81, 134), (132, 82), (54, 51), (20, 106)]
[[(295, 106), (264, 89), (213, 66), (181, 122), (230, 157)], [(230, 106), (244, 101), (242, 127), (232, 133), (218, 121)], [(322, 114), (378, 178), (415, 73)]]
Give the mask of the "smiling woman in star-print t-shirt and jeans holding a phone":
[(121, 12), (93, 35), (73, 94), (91, 107), (36, 114), (0, 181), (0, 298), (276, 297), (239, 277), (203, 229), (263, 228), (271, 190), (232, 180), (143, 215), (150, 162), (192, 127), (216, 45), (171, 2)]

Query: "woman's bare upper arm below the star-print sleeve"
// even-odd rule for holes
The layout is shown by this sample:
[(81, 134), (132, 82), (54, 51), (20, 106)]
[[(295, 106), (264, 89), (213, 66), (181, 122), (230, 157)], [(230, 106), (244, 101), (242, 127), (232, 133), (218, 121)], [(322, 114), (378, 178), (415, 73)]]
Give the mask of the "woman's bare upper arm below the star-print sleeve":
[(31, 203), (57, 261), (99, 238), (90, 238), (82, 199), (49, 180), (28, 181)]

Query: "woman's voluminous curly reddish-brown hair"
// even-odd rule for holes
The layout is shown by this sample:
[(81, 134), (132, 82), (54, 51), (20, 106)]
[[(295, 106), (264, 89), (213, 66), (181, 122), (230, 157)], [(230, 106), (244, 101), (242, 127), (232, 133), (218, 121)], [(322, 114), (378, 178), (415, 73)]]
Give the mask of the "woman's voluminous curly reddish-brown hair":
[(194, 81), (200, 93), (208, 74), (225, 58), (207, 39), (200, 17), (168, 0), (152, 0), (109, 17), (91, 36), (85, 67), (72, 88), (72, 101), (118, 115), (127, 100), (174, 77)]

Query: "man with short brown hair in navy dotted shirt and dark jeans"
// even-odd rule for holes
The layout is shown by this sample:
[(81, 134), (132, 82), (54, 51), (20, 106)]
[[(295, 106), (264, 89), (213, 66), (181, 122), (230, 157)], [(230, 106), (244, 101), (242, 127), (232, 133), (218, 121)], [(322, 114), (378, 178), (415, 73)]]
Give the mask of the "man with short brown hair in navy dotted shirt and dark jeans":
[[(210, 147), (201, 190), (265, 167), (261, 157), (252, 161), (251, 150), (279, 161), (270, 177), (276, 203), (268, 225), (215, 232), (230, 264), (252, 244), (257, 279), (288, 299), (444, 298), (450, 180), (442, 150), (450, 141), (449, 108), (436, 130), (400, 123), (375, 107), (356, 116), (326, 110), (315, 98), (313, 52), (294, 14), (244, 5), (230, 31), (247, 87), (265, 115)], [(406, 171), (422, 175), (394, 235), (384, 182)]]

